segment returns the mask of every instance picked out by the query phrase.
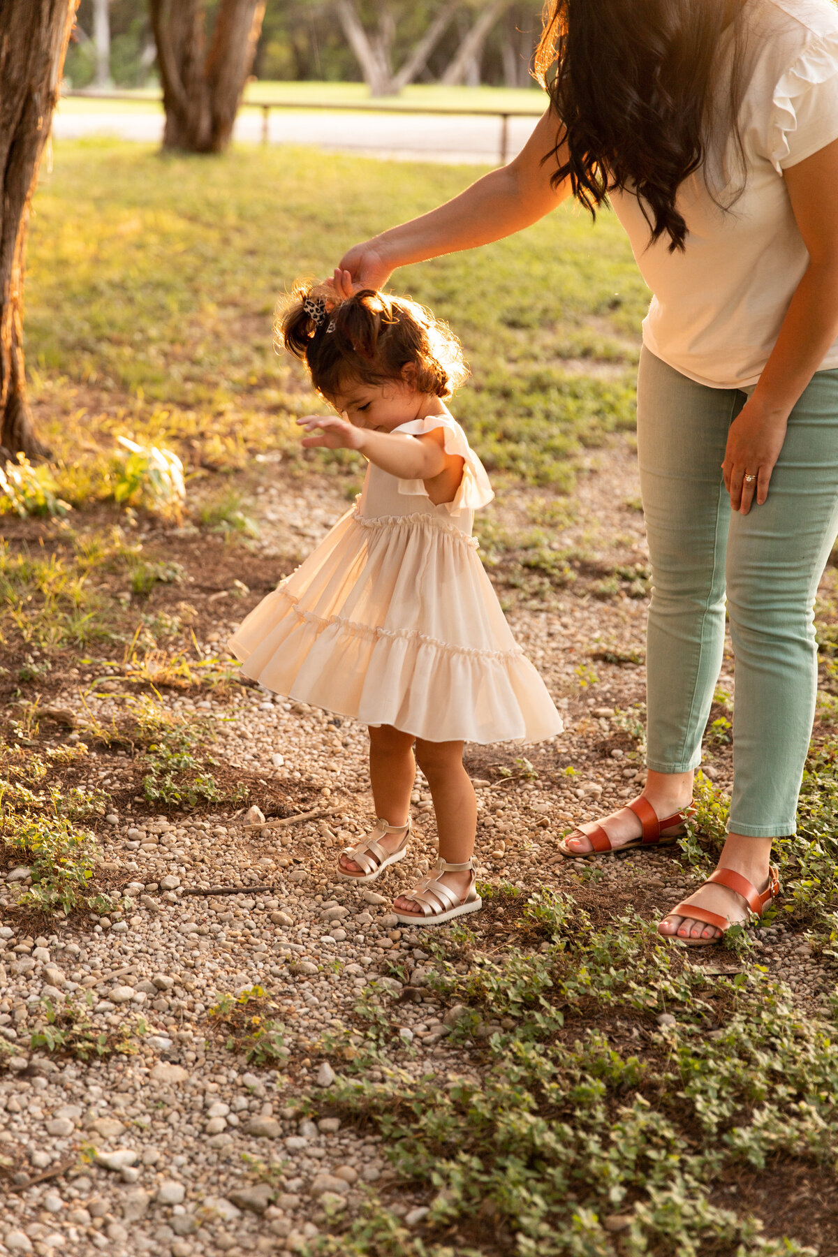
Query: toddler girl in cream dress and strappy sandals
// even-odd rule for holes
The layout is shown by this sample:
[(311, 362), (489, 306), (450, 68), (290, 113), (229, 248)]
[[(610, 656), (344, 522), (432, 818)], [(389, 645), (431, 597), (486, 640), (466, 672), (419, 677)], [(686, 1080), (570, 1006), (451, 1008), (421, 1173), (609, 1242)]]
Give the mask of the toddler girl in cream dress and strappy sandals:
[(402, 924), (438, 925), (482, 906), (464, 742), (538, 742), (562, 718), (471, 537), (474, 512), (494, 494), (442, 401), (467, 373), (457, 339), (415, 302), (353, 293), (348, 272), (297, 287), (281, 339), (340, 415), (298, 420), (303, 445), (359, 450), (369, 465), (357, 505), (250, 612), (230, 649), (268, 689), (369, 728), (378, 820), (343, 851), (339, 877), (371, 882), (405, 856), (420, 764), (440, 859), (393, 908)]

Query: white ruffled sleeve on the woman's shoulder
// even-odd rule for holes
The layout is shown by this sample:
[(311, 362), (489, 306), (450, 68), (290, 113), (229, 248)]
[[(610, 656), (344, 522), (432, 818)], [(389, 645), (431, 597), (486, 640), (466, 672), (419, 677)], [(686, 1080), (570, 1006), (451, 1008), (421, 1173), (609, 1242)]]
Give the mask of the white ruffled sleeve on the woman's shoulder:
[(768, 156), (778, 172), (838, 140), (838, 31), (810, 39), (771, 99)]

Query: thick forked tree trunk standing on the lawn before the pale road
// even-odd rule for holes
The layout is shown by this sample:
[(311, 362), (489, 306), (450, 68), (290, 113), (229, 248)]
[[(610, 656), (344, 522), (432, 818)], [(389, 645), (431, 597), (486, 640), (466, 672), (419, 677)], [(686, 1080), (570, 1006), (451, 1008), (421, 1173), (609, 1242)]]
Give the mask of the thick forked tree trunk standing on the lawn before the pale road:
[(209, 53), (206, 0), (151, 0), (163, 84), (163, 148), (217, 153), (230, 143), (265, 0), (221, 0)]

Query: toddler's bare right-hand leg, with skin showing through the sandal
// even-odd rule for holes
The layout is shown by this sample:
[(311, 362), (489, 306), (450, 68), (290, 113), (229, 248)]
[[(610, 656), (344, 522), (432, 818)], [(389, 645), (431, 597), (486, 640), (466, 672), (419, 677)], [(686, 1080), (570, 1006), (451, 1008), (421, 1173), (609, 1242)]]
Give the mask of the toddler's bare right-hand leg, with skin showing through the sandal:
[[(440, 856), (451, 864), (465, 864), (474, 854), (477, 830), (477, 801), (471, 778), (462, 767), (461, 742), (422, 742), (416, 739), (416, 760), (427, 778), (436, 812)], [(446, 872), (442, 882), (461, 897), (471, 874)], [(420, 913), (408, 895), (400, 895), (393, 908), (400, 913)]]

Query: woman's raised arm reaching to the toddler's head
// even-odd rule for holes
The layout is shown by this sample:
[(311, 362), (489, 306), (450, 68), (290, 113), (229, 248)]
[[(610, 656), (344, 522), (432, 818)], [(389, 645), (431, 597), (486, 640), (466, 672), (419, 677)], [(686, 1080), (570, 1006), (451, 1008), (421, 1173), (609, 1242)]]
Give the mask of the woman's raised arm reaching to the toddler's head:
[(340, 269), (348, 270), (356, 284), (381, 288), (398, 266), (476, 249), (536, 222), (570, 192), (568, 180), (558, 189), (550, 187), (555, 160), (541, 165), (555, 145), (557, 132), (555, 114), (548, 109), (508, 166), (484, 175), (430, 214), (357, 244), (340, 259)]

